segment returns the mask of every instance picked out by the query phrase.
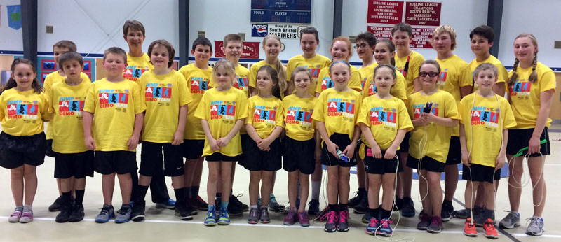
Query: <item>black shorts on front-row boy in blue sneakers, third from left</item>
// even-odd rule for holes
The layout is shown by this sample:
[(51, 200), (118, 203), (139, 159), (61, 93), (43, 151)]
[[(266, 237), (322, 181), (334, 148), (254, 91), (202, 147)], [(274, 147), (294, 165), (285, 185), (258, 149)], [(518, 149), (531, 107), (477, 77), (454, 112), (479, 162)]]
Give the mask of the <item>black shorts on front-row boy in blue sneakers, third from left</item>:
[(116, 150), (116, 151), (95, 151), (95, 162), (93, 169), (102, 175), (117, 173), (119, 175), (128, 174), (138, 169), (136, 165), (136, 152)]

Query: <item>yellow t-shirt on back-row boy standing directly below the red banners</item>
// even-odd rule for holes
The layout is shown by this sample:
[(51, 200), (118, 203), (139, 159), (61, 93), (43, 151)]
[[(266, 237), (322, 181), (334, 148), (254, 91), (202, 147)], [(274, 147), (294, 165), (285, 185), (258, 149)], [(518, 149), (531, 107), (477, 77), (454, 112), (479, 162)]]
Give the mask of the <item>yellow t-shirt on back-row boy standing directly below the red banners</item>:
[[(405, 85), (407, 86), (407, 97), (413, 94), (415, 89), (413, 80), (419, 77), (419, 69), (421, 64), (425, 61), (425, 58), (414, 50), (411, 50), (410, 54), (405, 57), (393, 57), (396, 61), (396, 70), (398, 70), (403, 77), (405, 77)], [(407, 66), (407, 71), (405, 71), (405, 66)]]

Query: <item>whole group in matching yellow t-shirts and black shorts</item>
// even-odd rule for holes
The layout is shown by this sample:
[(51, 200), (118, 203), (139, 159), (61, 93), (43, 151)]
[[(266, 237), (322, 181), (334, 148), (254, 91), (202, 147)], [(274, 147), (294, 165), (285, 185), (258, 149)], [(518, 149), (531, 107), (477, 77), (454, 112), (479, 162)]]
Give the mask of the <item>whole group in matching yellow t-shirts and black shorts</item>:
[[(55, 44), (60, 71), (50, 74), (44, 91), (34, 64), (15, 59), (0, 96), (0, 166), (11, 169), (16, 205), (8, 220), (32, 221), (35, 169), (52, 147), (62, 204), (57, 222), (83, 220), (85, 177), (96, 171), (102, 174), (104, 197), (96, 222), (144, 220), (149, 185), (154, 197), (153, 181), (164, 175), (172, 179), (177, 201), (171, 207), (182, 220), (205, 210), (204, 225), (228, 225), (230, 215), (249, 211), (249, 223), (268, 223), (276, 203), (276, 171), (282, 168), (288, 171), (290, 203), (285, 225), (309, 226), (308, 215), (321, 215), (326, 232), (346, 232), (349, 208), (354, 207), (365, 213), (367, 234), (391, 236), (391, 211), (416, 214), (411, 186), (412, 169), (417, 169), (423, 205), (417, 229), (438, 233), (442, 221), (454, 216), (466, 218), (464, 234), (476, 236), (475, 225), (482, 225), (485, 236), (497, 238), (494, 197), (500, 169), (505, 157), (513, 161), (511, 212), (499, 223), (513, 228), (520, 226), (521, 187), (515, 181), (522, 176), (524, 158), (513, 155), (528, 146), (534, 216), (527, 233), (540, 235), (546, 193), (540, 169), (542, 156), (550, 154), (547, 117), (555, 76), (537, 62), (536, 38), (515, 38), (514, 69), (506, 73), (489, 55), (490, 27), (471, 32), (476, 58), (470, 64), (453, 54), (457, 41), (450, 26), (433, 33), (436, 60), (410, 50), (409, 24), (396, 24), (391, 34), (391, 41), (370, 33), (356, 37), (360, 69), (348, 62), (353, 53), (349, 38), (334, 38), (329, 59), (316, 54), (318, 31), (309, 27), (300, 37), (303, 54), (286, 67), (278, 58), (278, 36), (264, 38), (266, 59), (248, 70), (238, 64), (241, 36), (228, 34), (226, 59), (208, 66), (212, 44), (197, 38), (191, 49), (195, 62), (175, 71), (173, 46), (154, 41), (144, 54), (144, 27), (133, 20), (123, 27), (130, 51), (105, 50), (107, 77), (95, 82), (81, 73), (83, 60), (75, 45)], [(141, 142), (136, 177), (135, 149)], [(198, 197), (204, 159), (208, 204)], [(235, 162), (250, 171), (249, 206), (231, 195)], [(462, 178), (468, 180), (466, 209), (454, 211), (461, 162)], [(327, 167), (327, 208), (320, 213), (322, 165)], [(349, 199), (349, 171), (355, 165), (359, 190)], [(123, 204), (116, 217), (111, 206), (115, 173)], [(165, 202), (160, 204), (165, 207)]]

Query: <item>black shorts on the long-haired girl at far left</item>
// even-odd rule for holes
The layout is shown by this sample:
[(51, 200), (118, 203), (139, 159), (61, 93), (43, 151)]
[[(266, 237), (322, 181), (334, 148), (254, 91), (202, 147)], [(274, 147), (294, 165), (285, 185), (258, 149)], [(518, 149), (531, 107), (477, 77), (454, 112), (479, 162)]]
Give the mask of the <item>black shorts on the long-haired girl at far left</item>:
[(0, 133), (0, 166), (14, 169), (28, 164), (39, 166), (45, 162), (47, 141), (45, 133), (30, 136), (13, 136)]

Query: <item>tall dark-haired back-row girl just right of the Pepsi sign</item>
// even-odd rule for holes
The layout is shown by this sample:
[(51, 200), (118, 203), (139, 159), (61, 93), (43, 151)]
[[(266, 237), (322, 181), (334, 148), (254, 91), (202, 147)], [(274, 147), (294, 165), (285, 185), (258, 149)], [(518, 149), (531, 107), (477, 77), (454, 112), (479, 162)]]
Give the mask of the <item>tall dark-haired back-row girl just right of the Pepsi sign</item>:
[[(288, 60), (286, 65), (286, 76), (290, 78), (292, 72), (299, 66), (308, 69), (311, 73), (311, 83), (309, 86), (310, 95), (316, 95), (316, 85), (320, 70), (331, 64), (331, 60), (323, 55), (316, 53), (316, 48), (320, 44), (318, 30), (314, 27), (307, 27), (300, 31), (300, 48), (302, 55), (297, 55)], [(295, 90), (294, 80), (287, 80), (288, 88), (285, 95), (290, 95)]]

